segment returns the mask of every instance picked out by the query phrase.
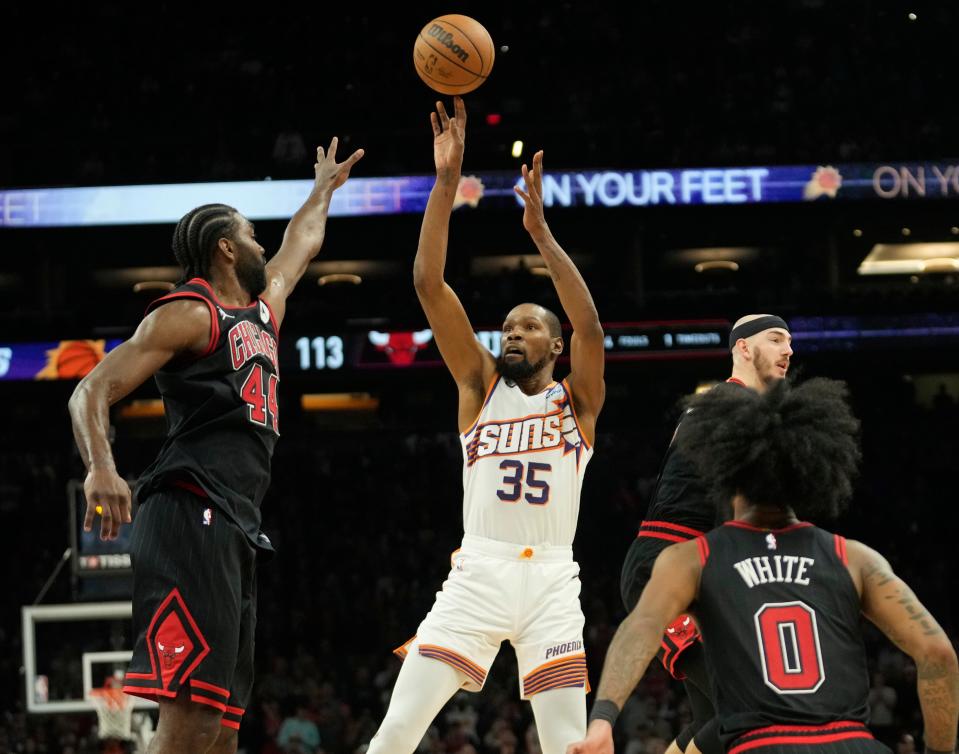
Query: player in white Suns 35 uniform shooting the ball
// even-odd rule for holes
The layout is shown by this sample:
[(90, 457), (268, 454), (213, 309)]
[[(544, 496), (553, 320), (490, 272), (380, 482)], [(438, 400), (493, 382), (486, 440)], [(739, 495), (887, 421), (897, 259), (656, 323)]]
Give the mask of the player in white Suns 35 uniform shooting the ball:
[(460, 550), (405, 656), (369, 754), (410, 754), (458, 689), (479, 691), (508, 640), (520, 695), (532, 703), (544, 754), (561, 754), (586, 727), (584, 618), (572, 542), (596, 418), (603, 405), (603, 331), (583, 278), (543, 214), (543, 153), (523, 166), (523, 227), (543, 256), (573, 325), (571, 374), (553, 379), (560, 321), (520, 304), (503, 323), (498, 359), (477, 341), (443, 279), (449, 219), (460, 180), (466, 108), (431, 114), (436, 183), (413, 267), (420, 303), (459, 389), (463, 446)]

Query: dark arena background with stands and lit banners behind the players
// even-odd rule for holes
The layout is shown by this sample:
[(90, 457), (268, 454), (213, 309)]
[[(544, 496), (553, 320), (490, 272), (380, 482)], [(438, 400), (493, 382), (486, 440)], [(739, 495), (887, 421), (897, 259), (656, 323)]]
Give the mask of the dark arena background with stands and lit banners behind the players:
[[(512, 192), (542, 148), (547, 220), (606, 332), (574, 546), (593, 686), (679, 402), (728, 376), (730, 326), (751, 312), (788, 321), (799, 379), (850, 386), (862, 475), (850, 511), (825, 525), (883, 552), (955, 642), (953, 3), (27, 6), (0, 11), (0, 752), (121, 750), (100, 740), (88, 694), (131, 649), (129, 556), (126, 535), (79, 530), (77, 378), (178, 278), (182, 214), (233, 204), (274, 252), (334, 135), (341, 158), (366, 156), (283, 324), (263, 505), (278, 555), (258, 575), (240, 749), (365, 751), (400, 667), (391, 650), (462, 534), (455, 386), (412, 285), (436, 95), (411, 53), (450, 12), (483, 23), (497, 57), (466, 96), (447, 280), (494, 353), (513, 305), (561, 313)], [(111, 431), (135, 480), (166, 431), (152, 380), (114, 407)], [(915, 667), (864, 631), (871, 726), (898, 754), (921, 750)], [(155, 714), (132, 711), (140, 742), (126, 750)], [(662, 754), (689, 715), (655, 664), (617, 751)], [(319, 746), (292, 730), (315, 730)], [(419, 751), (540, 751), (508, 645)]]

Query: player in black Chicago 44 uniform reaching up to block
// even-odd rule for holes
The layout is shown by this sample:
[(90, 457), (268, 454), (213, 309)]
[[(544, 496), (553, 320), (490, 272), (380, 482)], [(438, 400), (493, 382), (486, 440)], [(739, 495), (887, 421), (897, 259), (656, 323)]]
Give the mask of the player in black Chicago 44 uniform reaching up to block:
[(317, 149), (315, 183), (267, 263), (253, 224), (207, 204), (173, 236), (184, 282), (77, 386), (70, 415), (87, 468), (84, 529), (131, 521), (108, 440), (110, 406), (156, 375), (169, 433), (140, 477), (133, 629), (123, 690), (159, 702), (151, 754), (234, 752), (253, 686), (255, 568), (272, 552), (260, 503), (279, 437), (277, 339), (286, 298), (320, 250), (333, 192), (363, 156)]

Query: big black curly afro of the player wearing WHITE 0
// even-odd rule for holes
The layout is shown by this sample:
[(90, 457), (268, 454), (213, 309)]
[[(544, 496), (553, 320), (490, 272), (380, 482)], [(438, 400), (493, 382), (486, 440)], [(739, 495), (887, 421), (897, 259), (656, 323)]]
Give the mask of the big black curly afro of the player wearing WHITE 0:
[(844, 382), (781, 380), (765, 393), (719, 385), (693, 401), (676, 439), (720, 500), (834, 518), (858, 475), (859, 421)]

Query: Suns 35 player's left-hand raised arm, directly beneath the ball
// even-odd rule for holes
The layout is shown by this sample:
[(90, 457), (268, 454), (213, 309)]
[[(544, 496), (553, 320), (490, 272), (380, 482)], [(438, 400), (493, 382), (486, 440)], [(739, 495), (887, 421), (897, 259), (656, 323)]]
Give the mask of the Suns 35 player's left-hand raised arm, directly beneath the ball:
[(443, 361), (459, 387), (459, 427), (465, 431), (483, 404), (496, 361), (473, 333), (459, 297), (444, 279), (449, 221), (459, 186), (466, 143), (466, 106), (454, 97), (450, 118), (442, 102), (430, 113), (436, 183), (423, 214), (420, 241), (413, 262), (413, 284)]

